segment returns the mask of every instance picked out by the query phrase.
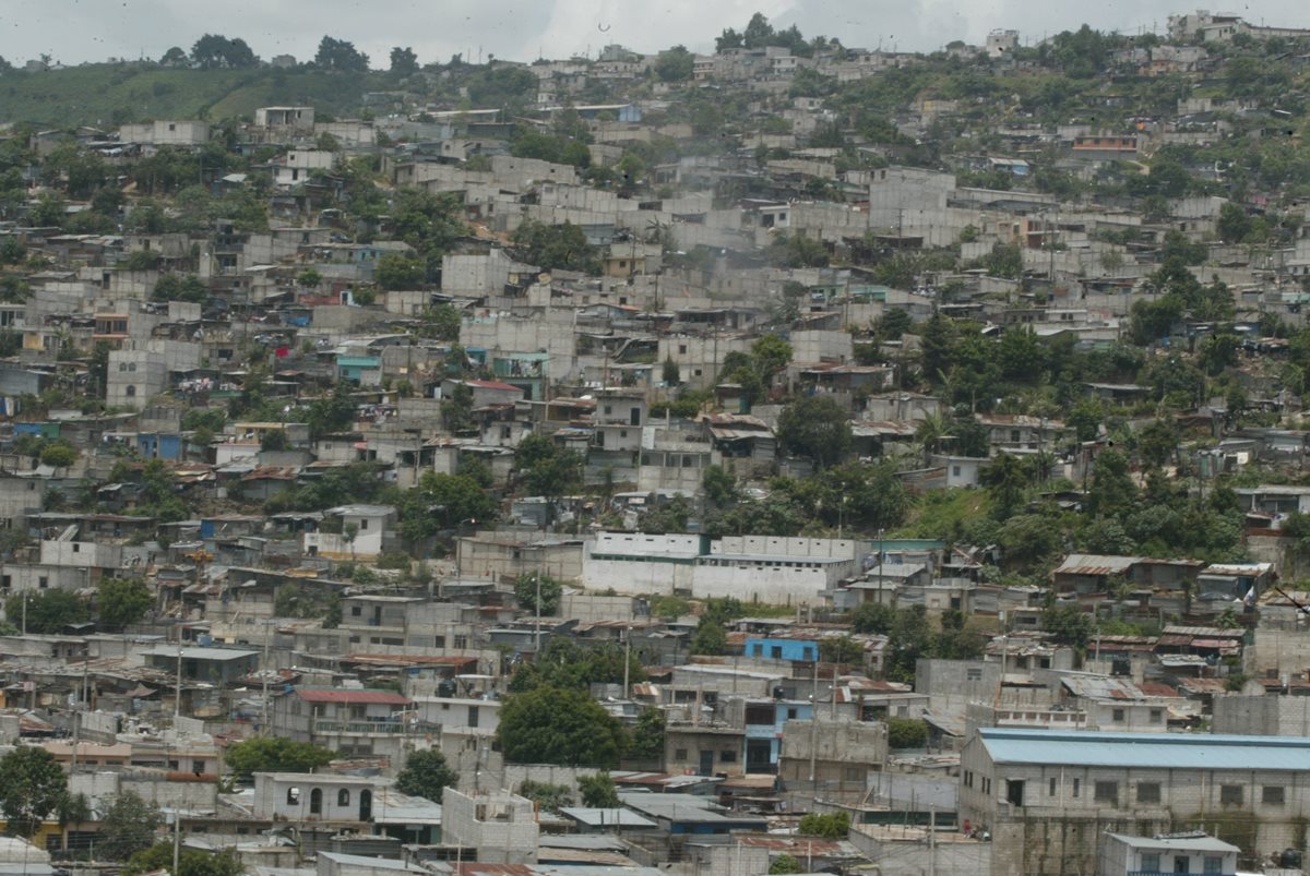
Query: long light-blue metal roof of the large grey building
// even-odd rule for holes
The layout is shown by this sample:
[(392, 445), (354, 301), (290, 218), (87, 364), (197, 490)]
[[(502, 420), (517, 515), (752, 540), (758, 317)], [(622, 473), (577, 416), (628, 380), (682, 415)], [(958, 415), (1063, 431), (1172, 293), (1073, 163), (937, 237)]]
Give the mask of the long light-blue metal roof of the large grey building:
[(1310, 770), (1310, 739), (980, 729), (996, 763), (1179, 770)]

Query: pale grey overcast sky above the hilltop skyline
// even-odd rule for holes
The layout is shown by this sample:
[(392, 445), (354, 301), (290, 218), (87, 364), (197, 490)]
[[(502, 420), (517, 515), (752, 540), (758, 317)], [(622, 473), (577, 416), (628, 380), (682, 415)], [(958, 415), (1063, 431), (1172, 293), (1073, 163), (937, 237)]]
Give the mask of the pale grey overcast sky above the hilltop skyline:
[[(1310, 27), (1305, 0), (1250, 0), (1229, 9), (1250, 21)], [(656, 51), (713, 47), (723, 27), (740, 30), (760, 10), (776, 26), (838, 37), (846, 46), (931, 51), (952, 39), (981, 43), (992, 29), (1024, 42), (1087, 22), (1102, 30), (1159, 30), (1165, 0), (0, 0), (0, 55), (21, 63), (47, 52), (64, 64), (155, 58), (190, 50), (203, 33), (241, 37), (261, 58), (313, 56), (326, 33), (348, 39), (385, 67), (392, 46), (413, 46), (422, 63), (455, 52), (511, 60), (566, 58), (620, 43)], [(0, 117), (4, 114), (0, 100)]]

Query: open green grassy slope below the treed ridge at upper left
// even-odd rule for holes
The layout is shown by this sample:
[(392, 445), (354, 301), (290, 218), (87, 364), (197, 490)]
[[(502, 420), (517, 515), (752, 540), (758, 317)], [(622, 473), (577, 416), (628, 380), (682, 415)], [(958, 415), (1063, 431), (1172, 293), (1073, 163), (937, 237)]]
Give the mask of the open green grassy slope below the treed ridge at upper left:
[(364, 92), (388, 88), (393, 85), (384, 73), (88, 64), (0, 76), (0, 122), (75, 127), (202, 117), (220, 120), (252, 115), (255, 107), (274, 103), (312, 103), (341, 118), (358, 114)]

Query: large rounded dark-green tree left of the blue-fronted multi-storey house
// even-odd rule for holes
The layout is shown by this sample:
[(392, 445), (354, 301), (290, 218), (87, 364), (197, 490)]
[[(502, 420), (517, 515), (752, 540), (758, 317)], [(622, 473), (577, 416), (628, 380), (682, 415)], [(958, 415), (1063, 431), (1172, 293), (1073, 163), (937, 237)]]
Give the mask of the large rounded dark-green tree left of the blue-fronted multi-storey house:
[(624, 728), (583, 690), (541, 686), (500, 707), (496, 742), (510, 763), (609, 769), (624, 750)]

